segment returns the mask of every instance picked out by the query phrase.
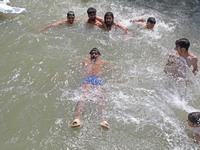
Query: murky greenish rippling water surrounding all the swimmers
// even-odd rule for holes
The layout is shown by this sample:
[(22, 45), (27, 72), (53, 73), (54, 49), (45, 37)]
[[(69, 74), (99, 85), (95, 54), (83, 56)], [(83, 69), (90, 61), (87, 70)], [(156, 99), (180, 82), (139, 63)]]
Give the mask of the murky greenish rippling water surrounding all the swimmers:
[[(185, 129), (187, 114), (200, 110), (199, 75), (197, 79), (191, 75), (193, 84), (186, 88), (184, 82), (166, 77), (163, 67), (181, 37), (190, 39), (190, 50), (200, 58), (200, 1), (19, 0), (11, 4), (27, 12), (0, 16), (0, 149), (199, 149)], [(112, 11), (116, 22), (127, 26), (130, 19), (149, 16), (157, 24), (154, 32), (134, 30), (126, 40), (120, 31), (108, 34), (82, 24), (34, 33), (65, 18), (68, 10), (84, 23), (91, 6), (102, 17)], [(69, 127), (80, 98), (79, 63), (93, 47), (101, 50), (114, 76), (105, 74), (108, 131), (98, 125), (94, 101), (86, 106), (84, 126)]]

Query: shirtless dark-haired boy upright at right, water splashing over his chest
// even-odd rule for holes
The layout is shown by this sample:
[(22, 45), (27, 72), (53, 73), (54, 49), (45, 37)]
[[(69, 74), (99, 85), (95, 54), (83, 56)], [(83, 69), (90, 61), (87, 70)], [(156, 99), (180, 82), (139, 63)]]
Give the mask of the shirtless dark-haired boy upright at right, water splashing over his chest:
[(194, 54), (188, 52), (190, 42), (186, 38), (178, 39), (175, 42), (175, 54), (169, 56), (165, 65), (164, 72), (171, 74), (173, 77), (185, 78), (186, 67), (193, 67), (192, 72), (197, 75), (198, 72), (198, 58)]

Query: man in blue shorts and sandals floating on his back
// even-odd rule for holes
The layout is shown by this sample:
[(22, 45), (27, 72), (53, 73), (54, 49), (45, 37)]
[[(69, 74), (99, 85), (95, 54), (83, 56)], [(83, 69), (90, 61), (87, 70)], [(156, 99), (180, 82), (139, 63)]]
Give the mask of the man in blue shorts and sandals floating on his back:
[[(86, 95), (90, 90), (96, 89), (98, 92), (95, 93), (98, 98), (98, 104), (101, 111), (101, 115), (105, 109), (104, 97), (103, 97), (103, 80), (100, 78), (103, 71), (107, 68), (107, 62), (100, 59), (100, 51), (97, 48), (93, 48), (90, 51), (90, 57), (83, 60), (83, 72), (85, 78), (82, 81), (81, 88), (83, 91), (84, 99), (77, 103), (75, 119), (71, 123), (71, 127), (78, 127), (81, 125), (81, 114), (84, 109)], [(104, 128), (109, 128), (109, 124), (106, 119), (102, 116), (102, 122), (100, 125)]]

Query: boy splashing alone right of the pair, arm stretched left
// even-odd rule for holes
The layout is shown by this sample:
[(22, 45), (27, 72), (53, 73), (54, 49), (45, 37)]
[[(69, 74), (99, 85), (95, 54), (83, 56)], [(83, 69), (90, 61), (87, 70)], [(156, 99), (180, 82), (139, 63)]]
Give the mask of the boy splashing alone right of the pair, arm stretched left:
[(146, 22), (146, 24), (137, 24), (137, 27), (140, 29), (153, 30), (156, 24), (156, 19), (154, 17), (149, 17), (147, 21), (144, 18), (141, 18), (141, 19), (136, 19), (136, 20), (130, 20), (130, 22), (131, 23)]

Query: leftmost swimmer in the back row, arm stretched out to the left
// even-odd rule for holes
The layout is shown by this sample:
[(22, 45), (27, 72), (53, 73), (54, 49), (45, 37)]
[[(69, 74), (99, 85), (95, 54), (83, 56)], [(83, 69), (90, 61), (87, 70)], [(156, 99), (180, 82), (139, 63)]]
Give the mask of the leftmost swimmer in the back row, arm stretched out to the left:
[(49, 25), (47, 25), (47, 26), (45, 26), (45, 27), (37, 30), (36, 32), (41, 32), (43, 30), (46, 30), (47, 28), (50, 28), (52, 26), (57, 26), (57, 25), (63, 25), (63, 24), (65, 24), (67, 26), (72, 26), (74, 24), (74, 22), (79, 22), (79, 19), (75, 19), (74, 12), (73, 11), (69, 11), (67, 13), (67, 18), (66, 19), (58, 21), (58, 22), (53, 23), (53, 24), (49, 24)]

